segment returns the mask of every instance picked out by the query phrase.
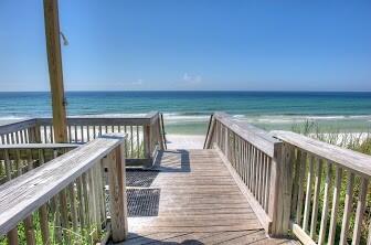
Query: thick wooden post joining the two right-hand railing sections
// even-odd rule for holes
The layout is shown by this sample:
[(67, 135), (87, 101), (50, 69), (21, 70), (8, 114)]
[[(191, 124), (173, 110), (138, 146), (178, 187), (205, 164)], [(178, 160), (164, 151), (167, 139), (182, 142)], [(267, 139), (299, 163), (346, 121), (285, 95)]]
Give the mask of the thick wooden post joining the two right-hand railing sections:
[(287, 143), (274, 145), (272, 159), (268, 215), (272, 219), (271, 235), (286, 236), (289, 228), (294, 151)]

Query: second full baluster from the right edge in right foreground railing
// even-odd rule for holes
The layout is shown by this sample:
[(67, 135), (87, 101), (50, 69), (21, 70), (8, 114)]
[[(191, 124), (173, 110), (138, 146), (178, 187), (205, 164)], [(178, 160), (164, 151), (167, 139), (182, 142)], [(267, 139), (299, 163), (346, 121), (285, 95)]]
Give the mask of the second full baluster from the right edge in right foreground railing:
[(353, 199), (354, 173), (349, 171), (347, 181), (348, 181), (348, 184), (347, 184), (344, 211), (343, 211), (343, 214), (342, 214), (342, 224), (341, 224), (341, 233), (340, 233), (340, 243), (339, 244), (347, 244), (349, 220), (350, 220), (350, 215), (351, 215), (352, 199)]

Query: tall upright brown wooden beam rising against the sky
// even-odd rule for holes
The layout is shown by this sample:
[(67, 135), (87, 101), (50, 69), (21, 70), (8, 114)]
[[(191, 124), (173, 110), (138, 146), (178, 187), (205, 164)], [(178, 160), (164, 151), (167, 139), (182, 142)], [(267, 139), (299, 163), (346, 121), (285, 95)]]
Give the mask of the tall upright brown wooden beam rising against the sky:
[(44, 19), (49, 76), (52, 92), (54, 140), (55, 142), (66, 142), (66, 103), (63, 87), (57, 0), (44, 0)]

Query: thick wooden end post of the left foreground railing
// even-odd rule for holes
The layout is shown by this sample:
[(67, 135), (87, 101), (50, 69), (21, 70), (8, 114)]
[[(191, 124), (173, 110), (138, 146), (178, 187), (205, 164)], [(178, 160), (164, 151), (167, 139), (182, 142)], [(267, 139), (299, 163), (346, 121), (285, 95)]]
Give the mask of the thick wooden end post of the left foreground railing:
[(123, 242), (128, 234), (125, 143), (113, 150), (107, 158), (113, 242)]

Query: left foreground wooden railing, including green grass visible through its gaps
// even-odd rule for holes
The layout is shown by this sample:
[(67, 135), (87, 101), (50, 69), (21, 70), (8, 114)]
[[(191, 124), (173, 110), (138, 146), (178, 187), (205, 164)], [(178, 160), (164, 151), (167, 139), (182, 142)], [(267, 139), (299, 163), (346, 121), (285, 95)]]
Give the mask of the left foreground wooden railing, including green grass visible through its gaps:
[(124, 241), (125, 136), (102, 136), (47, 162), (36, 152), (38, 168), (30, 161), (28, 172), (0, 185), (0, 239), (7, 235), (2, 239), (9, 244), (83, 244), (106, 234)]

